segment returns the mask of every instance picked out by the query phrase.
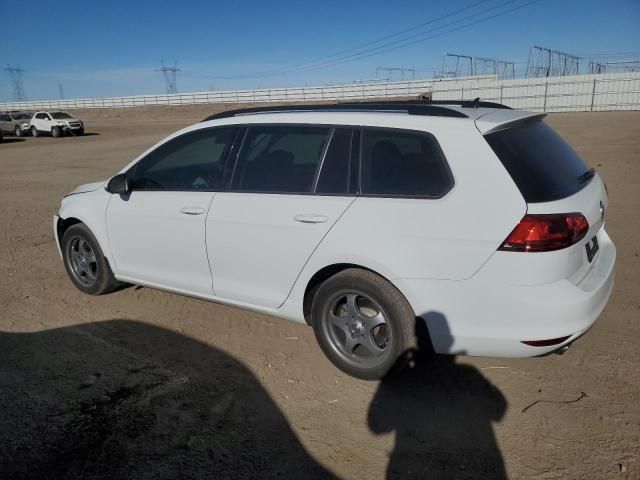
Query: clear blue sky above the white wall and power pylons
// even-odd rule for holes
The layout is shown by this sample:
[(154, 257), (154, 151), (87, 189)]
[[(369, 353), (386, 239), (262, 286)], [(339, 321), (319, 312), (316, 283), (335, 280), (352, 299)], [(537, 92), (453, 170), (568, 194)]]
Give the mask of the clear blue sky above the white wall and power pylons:
[[(538, 0), (442, 34), (530, 1), (0, 0), (0, 66), (20, 64), (27, 97), (44, 99), (59, 96), (58, 84), (66, 98), (162, 93), (163, 79), (154, 72), (162, 58), (178, 60), (182, 92), (350, 82), (374, 78), (377, 66), (413, 67), (430, 77), (447, 52), (526, 62), (532, 44), (581, 56), (627, 54), (610, 60), (630, 58), (629, 52), (640, 58), (640, 0)], [(353, 62), (246, 78), (340, 53), (465, 7), (386, 40), (442, 34), (420, 43)], [(9, 75), (0, 71), (0, 100), (11, 98)]]

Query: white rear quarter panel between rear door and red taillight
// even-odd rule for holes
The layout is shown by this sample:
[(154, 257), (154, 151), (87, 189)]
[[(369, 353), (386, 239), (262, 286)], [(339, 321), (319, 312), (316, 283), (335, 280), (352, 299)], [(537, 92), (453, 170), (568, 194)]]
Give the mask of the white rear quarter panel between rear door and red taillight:
[(291, 301), (332, 264), (361, 265), (391, 281), (463, 280), (482, 267), (527, 206), (473, 123), (459, 123), (423, 125), (440, 143), (453, 188), (440, 199), (357, 198), (310, 258)]

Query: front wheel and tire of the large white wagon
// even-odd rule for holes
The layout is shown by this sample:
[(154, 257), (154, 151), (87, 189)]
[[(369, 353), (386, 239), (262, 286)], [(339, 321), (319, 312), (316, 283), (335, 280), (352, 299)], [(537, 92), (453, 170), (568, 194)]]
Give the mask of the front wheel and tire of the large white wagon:
[(62, 236), (62, 257), (69, 278), (89, 295), (109, 293), (120, 286), (89, 228), (77, 223)]

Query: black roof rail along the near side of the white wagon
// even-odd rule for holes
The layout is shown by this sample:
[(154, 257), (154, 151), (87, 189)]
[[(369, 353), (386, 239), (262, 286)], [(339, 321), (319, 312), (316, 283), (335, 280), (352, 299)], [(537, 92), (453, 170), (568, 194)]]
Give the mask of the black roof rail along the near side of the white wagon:
[(218, 120), (252, 113), (288, 113), (288, 112), (388, 112), (407, 113), (409, 115), (429, 115), (436, 117), (468, 118), (467, 115), (446, 107), (430, 105), (425, 102), (392, 101), (392, 102), (359, 102), (313, 105), (277, 105), (267, 107), (240, 108), (216, 113), (203, 120)]

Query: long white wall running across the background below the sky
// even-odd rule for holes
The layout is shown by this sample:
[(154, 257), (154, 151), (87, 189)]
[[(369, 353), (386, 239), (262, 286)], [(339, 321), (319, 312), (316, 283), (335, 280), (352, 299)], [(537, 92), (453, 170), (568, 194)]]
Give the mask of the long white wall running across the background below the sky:
[(483, 76), (175, 95), (7, 102), (0, 103), (0, 110), (73, 110), (198, 103), (361, 101), (414, 97), (424, 92), (432, 92), (434, 100), (472, 100), (480, 97), (484, 101), (504, 103), (513, 108), (533, 111), (640, 110), (640, 72), (518, 80), (499, 80), (495, 76)]

